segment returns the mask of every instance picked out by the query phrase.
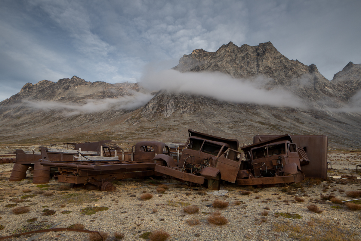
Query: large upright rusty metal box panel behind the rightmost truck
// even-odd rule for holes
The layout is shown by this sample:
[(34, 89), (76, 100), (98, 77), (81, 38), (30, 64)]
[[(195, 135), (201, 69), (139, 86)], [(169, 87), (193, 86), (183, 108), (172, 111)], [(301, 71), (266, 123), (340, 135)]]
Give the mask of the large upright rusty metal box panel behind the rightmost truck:
[[(255, 135), (253, 143), (266, 141), (278, 135)], [(291, 135), (293, 143), (302, 147), (309, 158), (309, 165), (302, 166), (302, 172), (306, 177), (327, 177), (327, 135)]]

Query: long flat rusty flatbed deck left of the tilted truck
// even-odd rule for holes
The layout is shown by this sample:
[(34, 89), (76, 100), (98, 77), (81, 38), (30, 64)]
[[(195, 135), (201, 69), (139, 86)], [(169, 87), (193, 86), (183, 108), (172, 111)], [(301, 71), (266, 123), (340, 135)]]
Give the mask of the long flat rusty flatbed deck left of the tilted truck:
[(79, 162), (40, 162), (40, 164), (49, 166), (49, 167), (67, 167), (73, 169), (82, 169), (82, 170), (117, 170), (121, 168), (154, 168), (156, 163), (142, 163), (142, 162), (129, 162), (129, 161), (79, 161)]

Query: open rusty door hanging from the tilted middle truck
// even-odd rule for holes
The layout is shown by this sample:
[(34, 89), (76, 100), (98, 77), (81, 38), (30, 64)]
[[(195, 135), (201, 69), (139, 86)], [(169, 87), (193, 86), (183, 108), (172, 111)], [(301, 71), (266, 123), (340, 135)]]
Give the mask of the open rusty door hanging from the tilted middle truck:
[(234, 183), (243, 158), (243, 152), (227, 149), (218, 158), (216, 168), (221, 171), (221, 179)]

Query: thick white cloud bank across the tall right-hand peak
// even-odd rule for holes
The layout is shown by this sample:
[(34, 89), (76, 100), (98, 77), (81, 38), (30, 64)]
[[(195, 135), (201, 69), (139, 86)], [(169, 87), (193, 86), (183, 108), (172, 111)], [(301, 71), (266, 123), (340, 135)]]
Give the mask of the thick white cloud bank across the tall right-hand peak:
[(249, 81), (235, 79), (222, 73), (181, 73), (170, 69), (145, 74), (141, 84), (152, 90), (185, 92), (235, 103), (304, 107), (299, 97), (286, 90), (262, 88), (262, 83), (267, 81), (269, 80), (260, 77)]

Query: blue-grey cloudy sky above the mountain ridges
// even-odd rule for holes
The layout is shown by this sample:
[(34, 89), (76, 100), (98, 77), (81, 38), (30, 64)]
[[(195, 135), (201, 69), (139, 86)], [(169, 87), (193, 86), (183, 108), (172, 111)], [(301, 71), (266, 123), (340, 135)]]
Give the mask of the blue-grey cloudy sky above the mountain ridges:
[(138, 82), (184, 54), (271, 41), (327, 79), (361, 63), (361, 1), (0, 0), (0, 101), (76, 75)]

